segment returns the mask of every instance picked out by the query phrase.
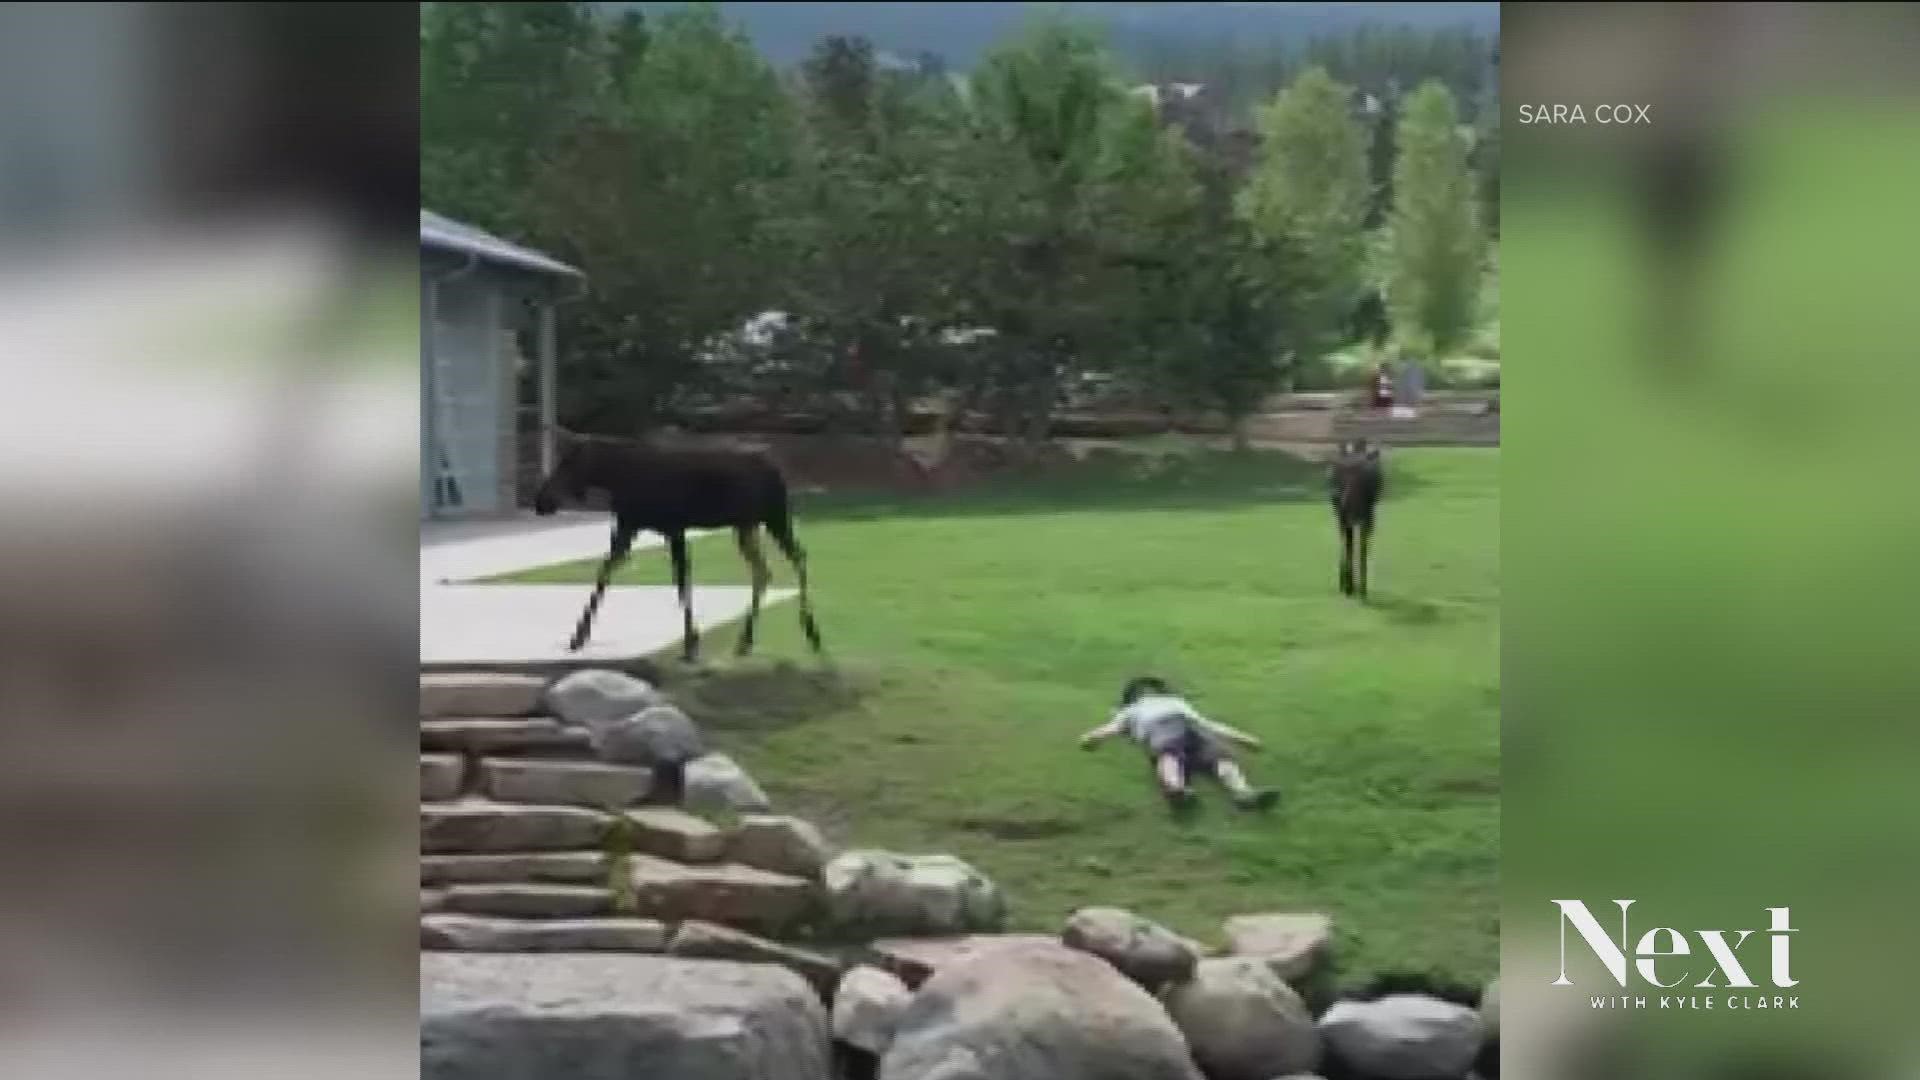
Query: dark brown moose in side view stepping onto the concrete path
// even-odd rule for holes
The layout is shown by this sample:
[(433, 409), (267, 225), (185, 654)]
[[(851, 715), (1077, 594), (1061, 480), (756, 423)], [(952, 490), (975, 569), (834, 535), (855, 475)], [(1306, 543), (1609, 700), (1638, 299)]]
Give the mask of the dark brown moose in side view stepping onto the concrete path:
[(641, 530), (666, 538), (674, 559), (674, 588), (680, 590), (682, 642), (687, 663), (699, 657), (701, 634), (693, 626), (693, 590), (687, 582), (687, 532), (693, 528), (733, 530), (739, 553), (753, 569), (753, 603), (747, 625), (739, 632), (737, 655), (753, 651), (753, 623), (760, 615), (760, 596), (772, 573), (760, 553), (760, 527), (780, 544), (793, 563), (801, 582), (801, 630), (814, 651), (820, 648), (820, 628), (806, 596), (806, 553), (793, 536), (793, 513), (787, 505), (787, 480), (760, 454), (739, 450), (660, 450), (639, 444), (570, 438), (553, 473), (534, 494), (534, 513), (545, 517), (561, 507), (561, 498), (580, 502), (589, 490), (607, 492), (612, 507), (612, 542), (607, 561), (593, 580), (580, 625), (574, 626), (568, 651), (580, 651), (593, 628), (601, 596), (612, 571), (626, 561), (634, 538)]

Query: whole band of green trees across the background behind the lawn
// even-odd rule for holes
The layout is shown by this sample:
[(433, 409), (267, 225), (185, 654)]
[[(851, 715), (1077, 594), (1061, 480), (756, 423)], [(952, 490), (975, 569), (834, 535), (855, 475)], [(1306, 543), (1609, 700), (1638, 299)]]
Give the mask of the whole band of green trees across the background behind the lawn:
[[(1267, 100), (1250, 154), (1060, 17), (972, 71), (858, 37), (776, 71), (712, 4), (424, 4), (422, 206), (586, 271), (578, 429), (758, 402), (899, 438), (945, 398), (1039, 440), (1085, 375), (1244, 419), (1352, 338), (1369, 286), (1404, 336), (1457, 340), (1488, 188), (1442, 83), (1482, 102), (1484, 46), (1361, 33), (1233, 79), (1164, 58), (1210, 83), (1188, 111)], [(1480, 177), (1494, 156), (1476, 140)]]

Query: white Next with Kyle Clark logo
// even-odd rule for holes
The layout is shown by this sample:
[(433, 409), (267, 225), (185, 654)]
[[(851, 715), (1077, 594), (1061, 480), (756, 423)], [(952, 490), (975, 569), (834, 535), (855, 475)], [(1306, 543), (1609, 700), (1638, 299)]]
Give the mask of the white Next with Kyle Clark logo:
[[(1572, 986), (1572, 980), (1567, 978), (1567, 928), (1572, 926), (1578, 940), (1599, 959), (1620, 990), (1632, 990), (1628, 978), (1628, 949), (1632, 949), (1632, 972), (1645, 988), (1678, 990), (1680, 994), (1592, 995), (1588, 999), (1592, 1009), (1799, 1009), (1797, 994), (1774, 994), (1774, 990), (1799, 986), (1799, 980), (1793, 978), (1789, 953), (1789, 936), (1795, 932), (1793, 917), (1786, 907), (1766, 909), (1764, 930), (1693, 930), (1686, 934), (1670, 926), (1655, 926), (1636, 940), (1628, 930), (1628, 911), (1636, 901), (1617, 899), (1613, 903), (1620, 907), (1619, 938), (1607, 936), (1584, 901), (1553, 901), (1561, 913), (1561, 970), (1553, 986)], [(1753, 938), (1751, 945), (1749, 938)], [(1741, 951), (1743, 945), (1745, 951)], [(1764, 961), (1759, 945), (1766, 947)], [(1768, 986), (1761, 986), (1749, 974), (1749, 967), (1761, 970), (1761, 963), (1764, 963)]]

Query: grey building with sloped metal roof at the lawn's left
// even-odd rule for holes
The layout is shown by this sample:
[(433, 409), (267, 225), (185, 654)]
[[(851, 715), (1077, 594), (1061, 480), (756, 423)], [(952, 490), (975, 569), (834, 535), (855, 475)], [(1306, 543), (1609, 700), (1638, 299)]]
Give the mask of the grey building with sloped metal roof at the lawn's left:
[(557, 307), (584, 284), (551, 256), (420, 209), (422, 521), (516, 511), (524, 413), (553, 465)]

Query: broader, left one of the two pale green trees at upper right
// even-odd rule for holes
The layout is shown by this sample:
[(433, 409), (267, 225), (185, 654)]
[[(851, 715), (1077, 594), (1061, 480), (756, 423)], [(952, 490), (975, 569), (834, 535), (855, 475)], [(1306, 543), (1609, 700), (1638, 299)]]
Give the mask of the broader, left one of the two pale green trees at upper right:
[(1365, 284), (1371, 198), (1367, 136), (1354, 92), (1311, 67), (1261, 113), (1261, 150), (1240, 190), (1240, 217), (1258, 240), (1269, 304), (1290, 350), (1315, 363), (1334, 348)]

